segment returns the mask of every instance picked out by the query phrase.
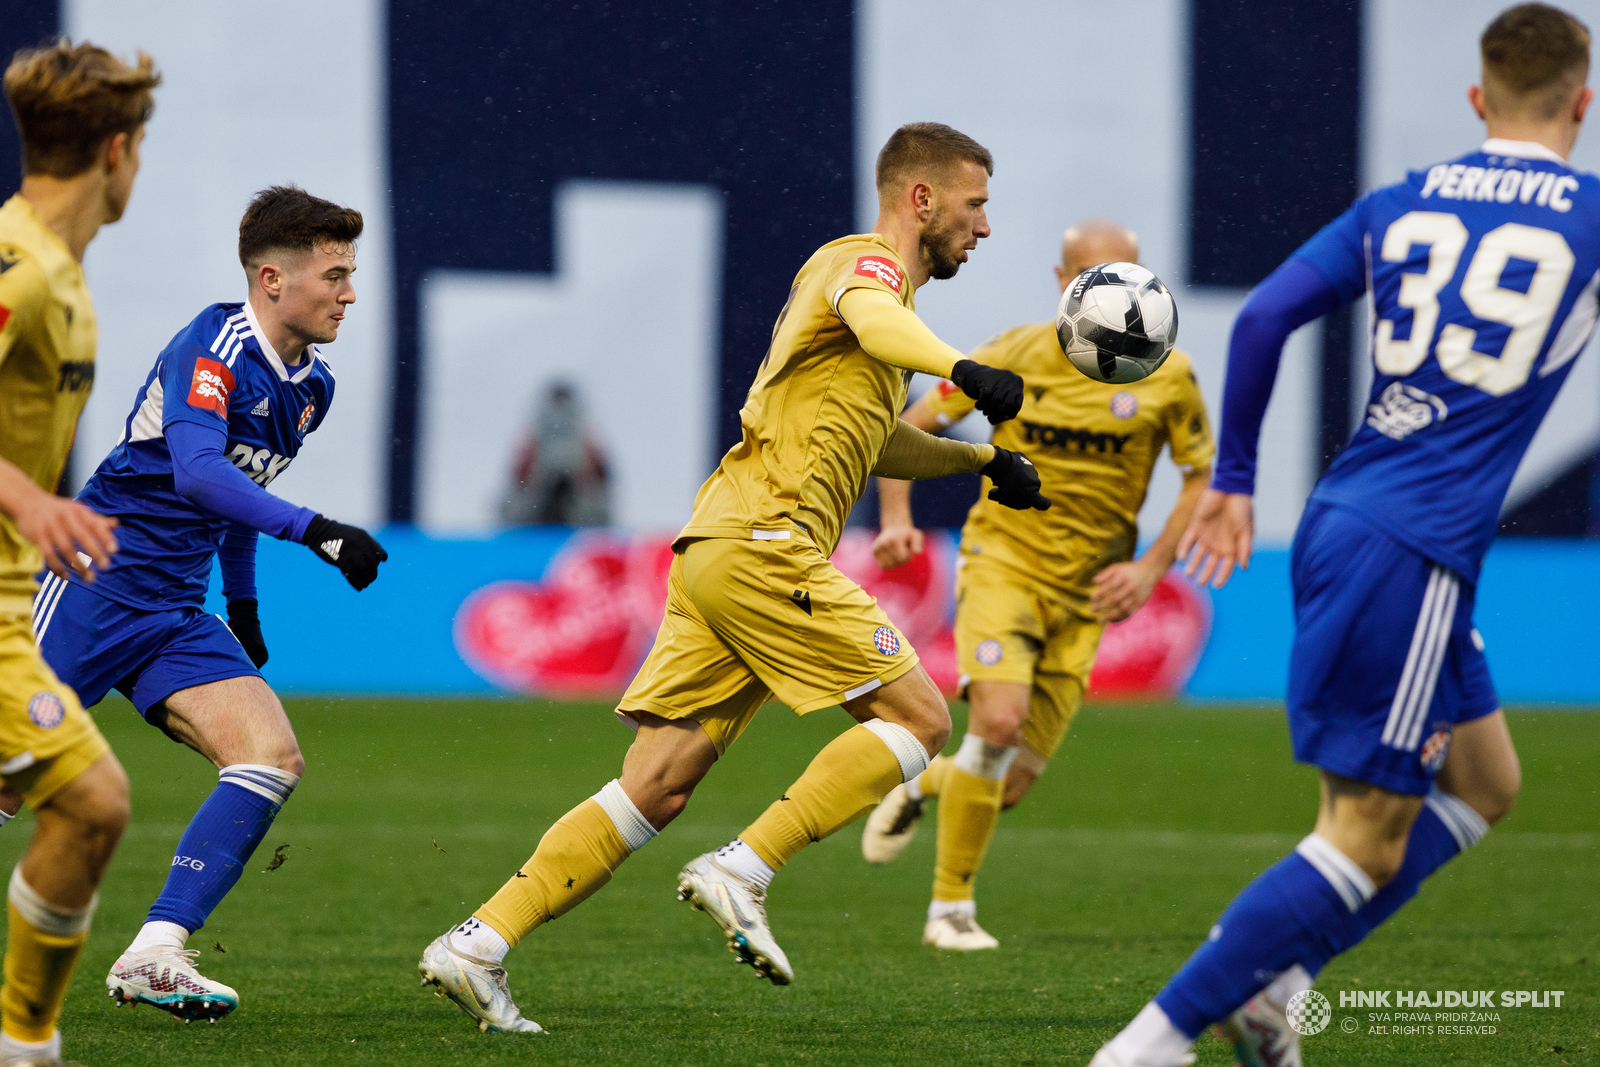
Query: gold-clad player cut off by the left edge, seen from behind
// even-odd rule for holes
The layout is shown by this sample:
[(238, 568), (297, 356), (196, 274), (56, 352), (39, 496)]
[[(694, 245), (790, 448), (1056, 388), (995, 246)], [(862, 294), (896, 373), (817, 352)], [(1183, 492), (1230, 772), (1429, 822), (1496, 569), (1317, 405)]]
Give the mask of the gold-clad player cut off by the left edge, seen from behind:
[(142, 53), (66, 42), (5, 72), (22, 189), (0, 206), (0, 777), (37, 827), (6, 893), (3, 1067), (59, 1062), (56, 1019), (128, 821), (128, 779), (38, 654), (32, 598), (42, 568), (93, 579), (117, 550), (115, 522), (51, 491), (94, 382), (83, 251), (128, 205), (158, 80)]

